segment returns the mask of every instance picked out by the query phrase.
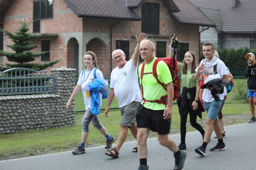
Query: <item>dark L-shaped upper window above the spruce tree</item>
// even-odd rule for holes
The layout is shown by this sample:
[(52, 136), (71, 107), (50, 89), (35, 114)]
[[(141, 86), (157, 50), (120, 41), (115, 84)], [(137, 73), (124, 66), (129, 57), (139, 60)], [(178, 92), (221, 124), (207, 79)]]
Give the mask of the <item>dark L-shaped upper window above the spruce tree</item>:
[(40, 33), (40, 20), (53, 18), (53, 0), (34, 0), (33, 33)]

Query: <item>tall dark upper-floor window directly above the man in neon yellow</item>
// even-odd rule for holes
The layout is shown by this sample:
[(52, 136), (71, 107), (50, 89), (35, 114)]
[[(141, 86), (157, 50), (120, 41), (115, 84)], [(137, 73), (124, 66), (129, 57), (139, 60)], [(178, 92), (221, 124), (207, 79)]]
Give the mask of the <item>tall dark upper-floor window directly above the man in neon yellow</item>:
[(143, 3), (141, 17), (141, 32), (159, 34), (159, 3)]

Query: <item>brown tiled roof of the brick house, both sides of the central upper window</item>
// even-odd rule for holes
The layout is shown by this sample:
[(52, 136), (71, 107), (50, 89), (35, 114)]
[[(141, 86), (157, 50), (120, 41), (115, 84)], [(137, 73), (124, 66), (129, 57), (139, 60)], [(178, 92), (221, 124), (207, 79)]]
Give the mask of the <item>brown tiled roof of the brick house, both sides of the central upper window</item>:
[[(64, 0), (78, 17), (111, 18), (139, 21), (142, 18), (132, 8), (140, 7), (145, 0)], [(215, 23), (207, 18), (188, 0), (162, 0), (168, 12), (182, 24), (215, 27)]]

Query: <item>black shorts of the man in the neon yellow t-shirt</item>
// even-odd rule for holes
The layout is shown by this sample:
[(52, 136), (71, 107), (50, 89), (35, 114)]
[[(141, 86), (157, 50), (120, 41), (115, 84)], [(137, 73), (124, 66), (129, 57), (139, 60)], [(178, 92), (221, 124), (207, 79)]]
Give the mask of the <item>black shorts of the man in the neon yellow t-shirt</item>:
[(137, 128), (150, 128), (151, 131), (157, 132), (159, 135), (170, 133), (171, 118), (163, 119), (163, 111), (155, 111), (139, 105), (136, 112)]

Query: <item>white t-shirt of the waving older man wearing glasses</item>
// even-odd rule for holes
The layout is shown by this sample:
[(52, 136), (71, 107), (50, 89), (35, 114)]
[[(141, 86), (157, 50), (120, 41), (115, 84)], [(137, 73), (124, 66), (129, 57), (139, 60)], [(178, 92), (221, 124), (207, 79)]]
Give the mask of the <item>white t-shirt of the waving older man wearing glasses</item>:
[(123, 68), (116, 67), (111, 72), (110, 88), (114, 88), (119, 108), (133, 101), (141, 102), (137, 68), (131, 59)]

